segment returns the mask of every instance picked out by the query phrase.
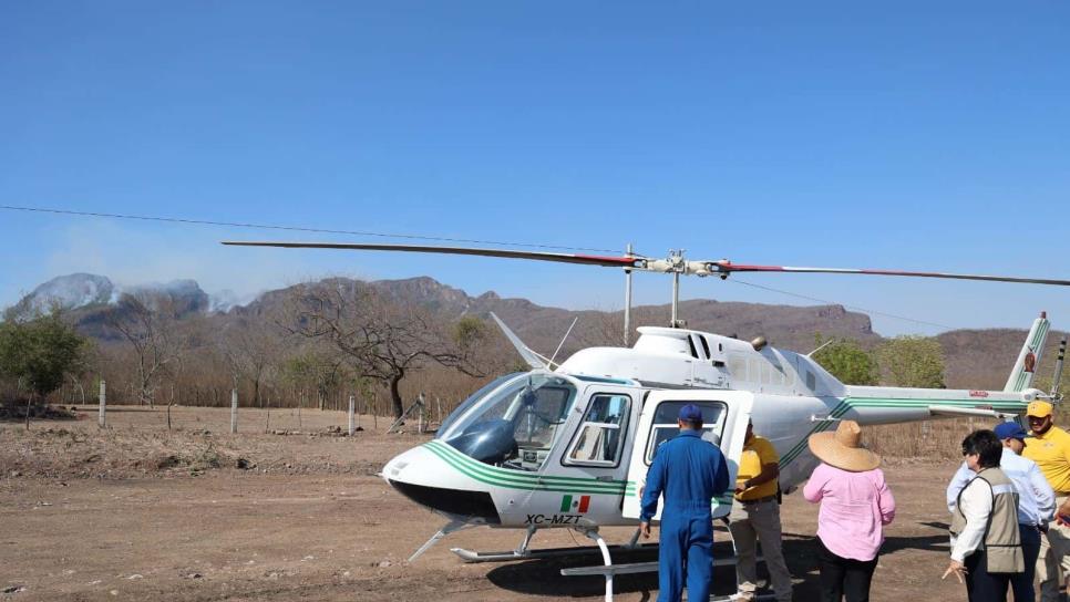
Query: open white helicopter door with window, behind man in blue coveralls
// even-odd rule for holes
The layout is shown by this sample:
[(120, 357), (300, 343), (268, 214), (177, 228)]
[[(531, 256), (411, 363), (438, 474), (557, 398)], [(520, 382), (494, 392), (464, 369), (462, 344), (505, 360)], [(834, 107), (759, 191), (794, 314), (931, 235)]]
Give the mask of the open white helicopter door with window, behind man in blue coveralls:
[[(639, 490), (646, 484), (647, 469), (654, 460), (658, 445), (671, 439), (679, 433), (677, 416), (680, 407), (696, 404), (702, 408), (704, 418), (702, 438), (718, 445), (724, 454), (729, 471), (729, 489), (712, 501), (713, 518), (727, 516), (732, 509), (732, 489), (735, 473), (747, 436), (747, 423), (751, 416), (754, 395), (743, 391), (654, 391), (642, 405), (636, 440), (631, 448), (628, 465), (628, 488), (625, 496), (623, 515), (638, 519), (640, 511)], [(661, 518), (661, 502), (655, 520)]]

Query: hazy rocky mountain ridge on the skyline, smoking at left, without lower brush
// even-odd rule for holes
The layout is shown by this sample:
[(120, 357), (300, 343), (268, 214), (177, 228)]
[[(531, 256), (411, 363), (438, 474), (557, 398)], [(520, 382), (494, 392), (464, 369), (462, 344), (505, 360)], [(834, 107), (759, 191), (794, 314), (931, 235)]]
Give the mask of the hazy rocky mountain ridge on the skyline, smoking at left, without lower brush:
[[(566, 341), (562, 354), (584, 346), (620, 340), (623, 312), (567, 310), (544, 307), (522, 298), (502, 298), (494, 291), (476, 297), (450, 287), (431, 277), (364, 282), (350, 278), (326, 278), (319, 283), (337, 286), (370, 286), (397, 299), (415, 303), (447, 319), (462, 315), (486, 318), (491, 312), (504, 320), (532, 349), (552, 354), (574, 318), (579, 318), (576, 330)], [(299, 284), (301, 287), (307, 284)], [(104, 324), (107, 309), (123, 293), (152, 299), (164, 299), (168, 308), (177, 308), (176, 318), (219, 315), (224, 320), (256, 316), (272, 311), (296, 287), (272, 289), (241, 304), (235, 295), (209, 295), (191, 279), (165, 283), (117, 287), (99, 274), (74, 273), (53, 278), (23, 297), (11, 311), (24, 315), (45, 311), (52, 303), (74, 315), (78, 328), (100, 341), (114, 341)], [(765, 336), (771, 344), (806, 353), (812, 351), (815, 333), (827, 338), (857, 341), (865, 347), (879, 344), (885, 338), (873, 332), (870, 318), (848, 311), (843, 305), (776, 305), (691, 299), (680, 302), (680, 314), (688, 328), (735, 335), (740, 339)], [(669, 319), (669, 305), (638, 305), (632, 308), (632, 326), (663, 325)], [(936, 336), (945, 350), (948, 386), (998, 388), (1002, 386), (1026, 335), (1026, 329), (961, 329)], [(635, 336), (635, 335), (632, 335)], [(632, 339), (634, 340), (634, 339)], [(1058, 343), (1058, 335), (1049, 338), (1049, 351)], [(1050, 365), (1053, 353), (1045, 354), (1043, 365)], [(968, 382), (968, 384), (967, 384)]]

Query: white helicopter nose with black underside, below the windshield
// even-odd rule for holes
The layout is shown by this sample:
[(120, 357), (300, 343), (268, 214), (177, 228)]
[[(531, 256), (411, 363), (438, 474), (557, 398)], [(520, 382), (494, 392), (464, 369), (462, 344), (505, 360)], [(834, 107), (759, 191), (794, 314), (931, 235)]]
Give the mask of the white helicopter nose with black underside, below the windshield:
[(451, 520), (502, 522), (486, 486), (456, 470), (426, 446), (391, 459), (383, 467), (382, 477), (399, 494)]

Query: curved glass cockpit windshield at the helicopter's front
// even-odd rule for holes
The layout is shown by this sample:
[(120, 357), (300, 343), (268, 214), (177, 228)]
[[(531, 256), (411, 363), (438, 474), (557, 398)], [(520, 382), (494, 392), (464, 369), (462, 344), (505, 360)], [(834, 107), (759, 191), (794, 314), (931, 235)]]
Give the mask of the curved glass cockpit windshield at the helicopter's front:
[(545, 373), (500, 378), (446, 419), (439, 439), (480, 461), (536, 470), (576, 401), (576, 386)]

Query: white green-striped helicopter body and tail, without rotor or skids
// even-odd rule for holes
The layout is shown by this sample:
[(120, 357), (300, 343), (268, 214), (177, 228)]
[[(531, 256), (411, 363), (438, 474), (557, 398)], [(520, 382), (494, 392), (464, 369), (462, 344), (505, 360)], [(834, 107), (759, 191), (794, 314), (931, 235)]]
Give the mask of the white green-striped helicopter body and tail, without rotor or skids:
[[(1042, 349), (1039, 319), (1026, 347)], [(780, 455), (792, 491), (817, 460), (806, 440), (838, 419), (862, 425), (1016, 415), (1040, 392), (1019, 356), (1019, 391), (844, 385), (806, 355), (691, 330), (642, 328), (631, 349), (577, 352), (555, 371), (503, 377), (463, 403), (438, 437), (393, 458), (383, 477), (453, 521), (506, 528), (636, 525), (639, 490), (676, 412), (697, 403), (704, 438), (734, 481), (748, 421)], [(1031, 364), (1029, 364), (1031, 371)], [(1028, 376), (1028, 377), (1027, 377)], [(727, 515), (731, 494), (713, 500)]]

